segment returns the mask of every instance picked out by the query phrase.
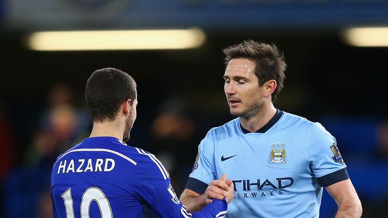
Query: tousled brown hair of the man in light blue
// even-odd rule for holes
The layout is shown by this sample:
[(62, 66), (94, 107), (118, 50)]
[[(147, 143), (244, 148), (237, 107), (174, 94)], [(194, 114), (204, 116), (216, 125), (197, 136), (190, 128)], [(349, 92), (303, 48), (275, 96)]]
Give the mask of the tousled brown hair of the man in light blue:
[(255, 62), (255, 75), (259, 78), (260, 86), (268, 80), (274, 79), (277, 86), (272, 93), (272, 102), (275, 102), (277, 94), (283, 88), (284, 71), (287, 67), (283, 52), (280, 52), (274, 44), (255, 42), (253, 40), (243, 41), (222, 51), (226, 55), (226, 66), (234, 58), (246, 58)]

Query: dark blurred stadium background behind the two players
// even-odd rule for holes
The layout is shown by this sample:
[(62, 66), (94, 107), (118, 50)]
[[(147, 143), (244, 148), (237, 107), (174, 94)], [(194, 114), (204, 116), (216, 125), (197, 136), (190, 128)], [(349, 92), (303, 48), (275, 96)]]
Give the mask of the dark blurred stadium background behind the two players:
[[(52, 163), (88, 136), (84, 86), (94, 70), (105, 67), (135, 78), (138, 118), (129, 145), (155, 153), (181, 193), (200, 140), (210, 128), (233, 119), (223, 93), (221, 49), (247, 39), (274, 42), (284, 51), (285, 88), (275, 106), (322, 123), (337, 139), (363, 217), (388, 217), (388, 30), (364, 38), (350, 31), (388, 27), (388, 1), (5, 0), (0, 21), (3, 217), (52, 216)], [(200, 39), (191, 48), (46, 51), (30, 43), (32, 33), (41, 31), (192, 28)], [(117, 34), (100, 45), (135, 41)], [(159, 34), (140, 39), (148, 46), (167, 46)], [(77, 36), (76, 47), (98, 35), (86, 41)], [(72, 40), (64, 37), (51, 45)], [(360, 44), (368, 39), (371, 44)], [(321, 217), (333, 217), (335, 210), (324, 193)]]

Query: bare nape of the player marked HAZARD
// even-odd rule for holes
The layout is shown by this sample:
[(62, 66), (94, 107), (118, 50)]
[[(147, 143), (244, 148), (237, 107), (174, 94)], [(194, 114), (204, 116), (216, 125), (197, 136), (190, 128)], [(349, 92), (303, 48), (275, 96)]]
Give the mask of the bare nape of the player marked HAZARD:
[(124, 127), (115, 120), (112, 122), (93, 122), (89, 137), (111, 136), (123, 140)]

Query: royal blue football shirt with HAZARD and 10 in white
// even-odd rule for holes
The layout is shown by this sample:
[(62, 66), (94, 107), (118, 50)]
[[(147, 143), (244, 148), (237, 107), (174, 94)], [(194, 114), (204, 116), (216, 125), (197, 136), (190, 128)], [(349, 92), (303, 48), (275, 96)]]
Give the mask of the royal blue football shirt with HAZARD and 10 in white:
[(52, 171), (54, 217), (223, 217), (226, 200), (190, 213), (176, 196), (169, 174), (151, 153), (114, 137), (86, 138), (57, 158)]

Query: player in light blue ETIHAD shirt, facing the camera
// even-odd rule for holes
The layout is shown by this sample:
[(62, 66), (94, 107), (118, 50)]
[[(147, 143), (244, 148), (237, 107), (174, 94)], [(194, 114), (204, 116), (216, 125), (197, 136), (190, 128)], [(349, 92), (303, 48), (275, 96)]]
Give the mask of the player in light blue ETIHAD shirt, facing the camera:
[[(335, 138), (321, 124), (274, 107), (286, 64), (273, 44), (244, 41), (223, 50), (224, 91), (237, 116), (211, 129), (199, 145), (180, 200), (189, 210), (221, 199), (226, 173), (234, 200), (226, 217), (318, 217), (322, 187), (336, 217), (360, 217), (361, 203)], [(221, 185), (220, 185), (221, 184)]]

